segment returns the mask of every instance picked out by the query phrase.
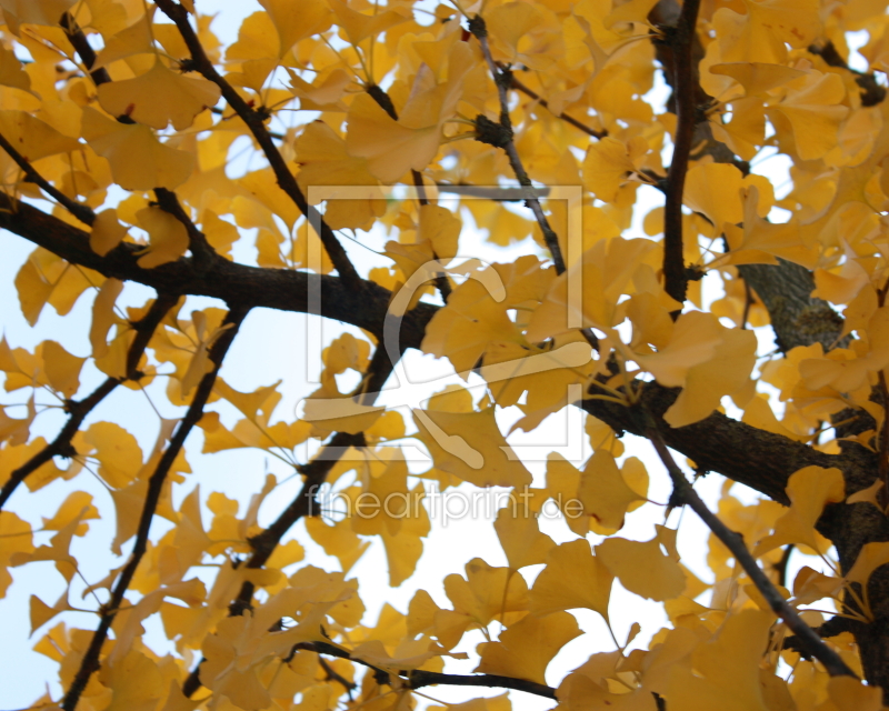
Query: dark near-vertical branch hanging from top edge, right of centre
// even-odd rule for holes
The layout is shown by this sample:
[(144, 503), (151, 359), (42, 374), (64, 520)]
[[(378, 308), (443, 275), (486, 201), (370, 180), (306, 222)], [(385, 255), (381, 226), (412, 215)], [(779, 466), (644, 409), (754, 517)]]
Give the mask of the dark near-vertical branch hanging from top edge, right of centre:
[(695, 106), (697, 68), (691, 50), (699, 7), (700, 0), (686, 0), (676, 28), (671, 31), (675, 57), (672, 84), (676, 91), (676, 136), (670, 170), (667, 173), (667, 199), (663, 206), (663, 279), (665, 290), (679, 303), (686, 301), (688, 288), (682, 256), (682, 193), (695, 124), (698, 121)]

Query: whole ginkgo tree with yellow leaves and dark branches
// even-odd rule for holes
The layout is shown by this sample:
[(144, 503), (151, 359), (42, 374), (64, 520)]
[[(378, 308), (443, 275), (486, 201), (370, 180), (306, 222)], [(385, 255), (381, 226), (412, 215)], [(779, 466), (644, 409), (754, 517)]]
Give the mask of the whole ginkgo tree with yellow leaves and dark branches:
[[(0, 592), (40, 562), (64, 582), (30, 598), (60, 689), (34, 708), (381, 711), (434, 684), (567, 711), (882, 708), (886, 3), (260, 6), (223, 47), (201, 0), (0, 0), (0, 227), (34, 248), (18, 306), (38, 331), (49, 309), (91, 313), (88, 353), (0, 341)], [(659, 77), (666, 106), (649, 101)], [(775, 153), (789, 186), (751, 169)], [(637, 202), (641, 187), (662, 200)], [(481, 239), (523, 254), (482, 262)], [(229, 382), (257, 309), (354, 327), (307, 353), (322, 371), (299, 417), (274, 383)], [(407, 417), (378, 404), (412, 349), (483, 394), (451, 385)], [(177, 414), (142, 451), (108, 402), (148, 391)], [(592, 455), (551, 453), (532, 477), (506, 408), (526, 432), (582, 409)], [(656, 468), (625, 457), (625, 433)], [(273, 519), (273, 478), (248, 505), (189, 482), (189, 457), (243, 448), (301, 478)], [(703, 474), (726, 478), (716, 511)], [(669, 501), (649, 501), (653, 478)], [(389, 583), (408, 580), (424, 493), (460, 485), (512, 494), (493, 523), (508, 564), (468, 560), (447, 600), (421, 589), (368, 623), (348, 571), (377, 540)], [(347, 514), (323, 515), (331, 488)], [(41, 521), (24, 513), (57, 490)], [(539, 527), (553, 503), (559, 544)], [(639, 509), (660, 519), (649, 540), (621, 535)], [(679, 560), (680, 509), (711, 531), (709, 580)], [(72, 545), (97, 519), (117, 562), (86, 581)], [(306, 561), (297, 530), (340, 569)], [(792, 580), (791, 557), (808, 561)], [(571, 611), (608, 622), (617, 582), (667, 624), (548, 677), (583, 633)], [(447, 671), (467, 653), (475, 672)]]

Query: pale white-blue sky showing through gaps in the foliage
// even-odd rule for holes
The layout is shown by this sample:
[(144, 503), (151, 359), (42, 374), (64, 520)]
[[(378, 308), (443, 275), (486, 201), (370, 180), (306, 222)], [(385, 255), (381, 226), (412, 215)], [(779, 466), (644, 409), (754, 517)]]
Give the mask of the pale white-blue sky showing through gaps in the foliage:
[[(252, 11), (259, 9), (253, 1), (242, 0), (229, 2), (224, 0), (197, 0), (198, 8), (203, 13), (219, 12), (214, 21), (213, 29), (223, 43), (228, 44), (237, 37), (237, 28), (240, 20)], [(160, 17), (160, 16), (159, 16)], [(656, 89), (657, 96), (665, 97), (663, 87)], [(296, 120), (302, 122), (304, 118), (299, 114)], [(256, 164), (256, 163), (254, 163)], [(786, 181), (788, 161), (783, 158), (769, 159), (760, 163), (757, 172), (763, 172), (772, 178), (776, 187)], [(633, 227), (625, 237), (642, 237), (641, 218), (655, 206), (662, 203), (662, 197), (653, 189), (642, 188), (639, 193), (637, 208), (637, 219)], [(47, 307), (41, 314), (36, 329), (30, 329), (24, 322), (19, 310), (19, 300), (13, 286), (14, 276), (20, 266), (31, 251), (31, 244), (24, 240), (3, 233), (0, 237), (3, 246), (4, 259), (0, 262), (0, 303), (4, 307), (0, 312), (0, 326), (11, 347), (33, 348), (44, 339), (54, 339), (61, 342), (70, 352), (78, 356), (90, 353), (89, 341), (87, 339), (90, 323), (90, 308), (92, 297), (83, 296), (74, 307), (71, 314), (61, 318), (56, 314), (51, 307)], [(252, 240), (246, 240), (250, 246)], [(491, 248), (482, 243), (481, 238), (472, 233), (468, 228), (463, 229), (461, 247), (463, 251), (471, 251), (475, 256), (490, 261), (511, 261), (515, 257), (527, 253), (530, 240), (507, 250)], [(372, 258), (370, 252), (346, 240), (350, 256), (359, 266), (359, 270), (366, 268), (369, 259), (372, 263), (382, 264), (387, 260)], [(244, 253), (252, 253), (251, 247), (247, 246), (239, 249)], [(141, 304), (147, 298), (153, 296), (153, 291), (139, 287), (127, 286), (124, 292), (126, 303)], [(712, 301), (720, 296), (718, 284), (713, 279), (705, 279), (706, 301)], [(182, 310), (183, 314), (197, 308), (206, 306), (223, 307), (224, 304), (210, 299), (190, 299), (188, 306)], [(269, 310), (254, 310), (248, 318), (241, 333), (238, 336), (222, 370), (222, 375), (232, 387), (240, 391), (250, 391), (260, 385), (268, 385), (278, 379), (283, 380), (282, 392), (283, 401), (276, 411), (276, 419), (292, 419), (291, 413), (298, 407), (301, 398), (308, 395), (316, 385), (306, 382), (307, 369), (311, 368), (317, 372), (318, 352), (303, 352), (303, 341), (307, 333), (307, 317), (302, 314), (291, 314), (272, 312)], [(347, 329), (336, 322), (323, 323), (323, 340), (329, 343), (339, 332), (351, 330), (358, 334), (357, 329)], [(772, 348), (771, 334), (768, 329), (759, 329), (760, 352), (765, 353)], [(428, 378), (433, 373), (446, 374), (450, 367), (446, 361), (422, 356), (417, 351), (410, 351), (404, 358), (408, 373), (422, 373)], [(475, 377), (473, 377), (475, 378)], [(159, 379), (160, 380), (160, 379)], [(84, 375), (81, 378), (83, 387), (80, 394), (89, 392), (99, 375), (92, 369), (88, 373), (84, 368)], [(460, 382), (453, 378), (450, 382)], [(476, 385), (476, 397), (480, 397), (482, 390), (478, 389), (481, 381), (478, 378), (470, 380), (470, 385)], [(162, 384), (156, 383), (152, 389), (156, 392)], [(439, 390), (442, 384), (437, 383), (434, 390)], [(123, 390), (123, 389), (120, 389)], [(431, 390), (427, 394), (431, 394)], [(21, 402), (20, 392), (8, 394), (3, 398), (6, 403)], [(383, 400), (384, 401), (384, 400)], [(163, 402), (159, 397), (156, 402)], [(133, 404), (136, 403), (136, 404)], [(233, 409), (224, 403), (214, 403), (209, 409), (223, 412), (223, 421), (232, 423)], [(573, 410), (573, 409), (570, 409)], [(167, 408), (162, 411), (164, 417), (174, 417), (176, 410)], [(181, 412), (180, 412), (181, 414)], [(402, 412), (404, 414), (404, 412)], [(506, 431), (516, 419), (519, 412), (512, 409), (501, 413), (499, 418), (502, 430)], [(543, 427), (522, 439), (521, 433), (510, 435), (511, 444), (521, 443), (547, 443), (548, 438), (551, 442), (563, 439), (560, 434), (567, 425), (582, 428), (582, 420), (578, 417), (579, 411), (571, 412), (571, 420), (566, 420), (566, 413), (552, 415)], [(150, 450), (157, 435), (157, 417), (149, 403), (141, 398), (136, 398), (129, 391), (117, 391), (97, 411), (96, 419), (109, 419), (118, 422), (131, 433), (133, 433), (142, 445), (143, 452)], [(406, 417), (409, 431), (413, 431), (412, 422)], [(47, 439), (51, 439), (58, 432), (63, 417), (59, 411), (41, 415), (34, 427), (36, 433), (41, 433)], [(190, 493), (194, 485), (200, 484), (203, 498), (212, 491), (222, 491), (229, 497), (237, 498), (246, 505), (249, 497), (261, 487), (266, 472), (276, 473), (279, 480), (290, 477), (292, 470), (288, 469), (272, 457), (262, 452), (249, 450), (226, 451), (220, 454), (200, 454), (201, 434), (196, 431), (192, 433), (188, 443), (188, 459), (194, 470), (193, 474), (188, 475), (184, 484), (174, 489), (174, 502), (178, 503)], [(660, 462), (653, 457), (651, 447), (645, 440), (626, 435), (627, 454), (642, 459), (649, 470), (650, 489), (649, 499), (657, 502), (666, 502), (669, 493), (669, 480)], [(303, 454), (302, 461), (304, 461)], [(681, 459), (681, 458), (680, 458)], [(542, 479), (545, 464), (540, 461), (526, 461), (528, 468), (536, 477), (536, 484)], [(421, 470), (416, 469), (416, 471)], [(717, 475), (709, 475), (701, 480), (697, 488), (705, 497), (705, 500), (712, 507), (719, 494), (722, 479)], [(76, 485), (74, 485), (76, 484)], [(96, 505), (100, 512), (104, 512), (107, 518), (102, 521), (90, 521), (90, 533), (83, 539), (76, 539), (72, 551), (83, 565), (84, 577), (94, 581), (107, 573), (114, 563), (108, 552), (108, 542), (113, 537), (113, 511), (110, 497), (102, 487), (91, 479), (88, 474), (82, 474), (74, 482), (56, 482), (36, 494), (27, 492), (22, 487), (11, 501), (10, 510), (18, 515), (31, 521), (34, 528), (40, 525), (41, 515), (51, 515), (68, 495), (78, 488), (86, 488), (96, 497)], [(299, 489), (299, 481), (290, 479), (287, 483), (279, 485), (272, 495), (267, 500), (261, 511), (260, 522), (268, 523), (273, 520), (277, 513), (283, 509)], [(745, 500), (752, 500), (752, 495), (742, 493), (743, 488), (736, 485), (736, 495), (741, 495)], [(679, 551), (682, 554), (682, 562), (699, 574), (703, 580), (710, 581), (711, 575), (705, 565), (706, 540), (709, 531), (690, 512), (673, 512), (668, 524), (675, 528), (681, 517), (679, 529)], [(209, 524), (209, 518), (204, 519)], [(627, 525), (620, 531), (619, 535), (635, 540), (649, 540), (653, 535), (653, 525), (663, 523), (663, 508), (647, 504), (638, 512), (628, 517)], [(166, 529), (166, 523), (158, 522), (152, 527), (152, 538), (157, 539)], [(442, 522), (433, 521), (433, 530), (424, 541), (424, 554), (420, 559), (417, 572), (398, 589), (388, 588), (388, 572), (384, 551), (381, 542), (374, 541), (363, 558), (352, 568), (349, 575), (358, 578), (360, 581), (360, 594), (368, 608), (364, 618), (366, 624), (372, 624), (378, 611), (384, 602), (394, 605), (401, 612), (407, 612), (407, 607), (413, 592), (423, 588), (430, 592), (436, 602), (441, 607), (450, 607), (449, 601), (443, 594), (441, 581), (449, 573), (462, 573), (463, 565), (475, 557), (482, 558), (491, 565), (505, 565), (506, 558), (497, 541), (490, 520), (465, 518), (459, 521), (448, 522), (447, 530), (442, 530)], [(550, 534), (556, 542), (572, 540), (575, 537), (568, 531), (565, 521), (541, 520), (541, 530)], [(328, 558), (318, 545), (314, 545), (304, 531), (304, 525), (300, 522), (291, 532), (306, 547), (307, 557), (304, 563), (310, 563), (326, 568), (328, 570), (339, 570), (336, 559)], [(48, 538), (48, 537), (47, 537)], [(37, 539), (43, 542), (40, 538)], [(589, 540), (596, 544), (601, 539), (590, 534)], [(131, 549), (130, 541), (124, 545), (124, 554)], [(803, 557), (795, 554), (792, 568), (796, 569), (803, 562)], [(812, 561), (806, 559), (805, 562), (812, 567)], [(527, 568), (522, 571), (530, 583), (539, 573), (542, 567)], [(0, 614), (4, 621), (6, 643), (0, 645), (0, 709), (22, 709), (32, 703), (42, 692), (46, 680), (53, 680), (50, 684), (53, 695), (59, 697), (60, 690), (54, 682), (57, 678), (57, 665), (41, 654), (31, 651), (30, 647), (38, 641), (47, 629), (54, 625), (59, 619), (64, 619), (69, 625), (93, 629), (97, 618), (84, 613), (68, 613), (54, 619), (48, 625), (39, 630), (33, 639), (27, 644), (30, 623), (28, 620), (28, 600), (30, 594), (38, 594), (44, 602), (52, 604), (61, 594), (62, 579), (54, 571), (51, 563), (32, 563), (23, 568), (13, 570), (16, 582), (10, 588), (6, 599), (0, 600)], [(792, 580), (792, 574), (790, 577)], [(82, 589), (82, 585), (80, 587)], [(73, 590), (78, 590), (74, 585)], [(620, 589), (618, 582), (611, 598), (610, 614), (615, 633), (621, 642), (626, 640), (630, 625), (638, 621), (642, 624), (642, 633), (637, 638), (633, 647), (646, 647), (651, 634), (666, 622), (662, 607), (649, 600), (643, 600), (635, 594), (627, 593)], [(70, 601), (77, 605), (79, 598), (71, 595)], [(706, 602), (706, 600), (705, 600)], [(591, 611), (576, 611), (580, 628), (587, 634), (569, 642), (556, 657), (548, 669), (548, 682), (558, 684), (565, 674), (587, 660), (589, 654), (597, 651), (611, 651), (613, 642), (598, 614)], [(166, 640), (160, 630), (159, 621), (154, 620), (148, 624), (146, 641), (159, 653), (171, 649), (171, 644)], [(475, 657), (475, 645), (483, 641), (480, 633), (466, 635), (457, 651), (468, 651), (470, 657)], [(455, 673), (469, 673), (475, 667), (475, 661), (455, 662), (448, 661), (447, 671)], [(422, 690), (432, 699), (447, 701), (462, 701), (481, 695), (498, 695), (502, 690), (498, 689), (461, 689), (458, 687), (439, 687)], [(521, 692), (512, 692), (511, 699), (513, 707), (522, 711), (537, 711), (549, 709), (555, 702), (540, 699)]]

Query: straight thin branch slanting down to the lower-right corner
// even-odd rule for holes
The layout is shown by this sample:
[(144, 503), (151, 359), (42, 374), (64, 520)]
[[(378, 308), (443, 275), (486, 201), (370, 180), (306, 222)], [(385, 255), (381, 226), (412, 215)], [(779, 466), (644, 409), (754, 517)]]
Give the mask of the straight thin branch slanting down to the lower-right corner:
[(853, 677), (857, 679), (858, 677), (856, 673), (849, 669), (846, 662), (842, 661), (842, 658), (823, 643), (815, 630), (800, 619), (797, 611), (790, 607), (781, 593), (778, 592), (778, 589), (771, 580), (769, 580), (769, 577), (757, 564), (756, 558), (747, 550), (743, 538), (729, 529), (707, 508), (698, 495), (698, 492), (695, 491), (682, 473), (682, 470), (679, 469), (673, 460), (655, 419), (648, 412), (646, 412), (645, 415), (648, 420), (645, 434), (655, 445), (655, 450), (658, 452), (660, 460), (670, 474), (670, 479), (673, 482), (673, 500), (691, 507), (692, 511), (701, 518), (716, 537), (731, 551), (735, 560), (743, 568), (745, 572), (757, 587), (772, 611), (785, 621), (788, 629), (796, 635), (800, 648), (805, 649), (808, 654), (820, 661), (831, 677)]

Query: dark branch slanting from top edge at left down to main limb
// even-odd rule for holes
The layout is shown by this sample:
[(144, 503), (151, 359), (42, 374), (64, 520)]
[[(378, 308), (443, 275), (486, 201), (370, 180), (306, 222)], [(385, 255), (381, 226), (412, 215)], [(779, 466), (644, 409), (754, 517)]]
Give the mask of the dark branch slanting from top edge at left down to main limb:
[(207, 53), (203, 51), (203, 46), (189, 22), (188, 11), (178, 2), (174, 2), (174, 0), (158, 0), (157, 6), (173, 21), (177, 28), (179, 28), (179, 33), (182, 36), (186, 46), (191, 52), (193, 69), (219, 87), (222, 91), (222, 97), (228, 101), (229, 106), (234, 109), (238, 116), (241, 117), (247, 128), (249, 128), (250, 132), (253, 134), (257, 143), (259, 143), (260, 149), (266, 154), (266, 159), (269, 161), (269, 166), (271, 166), (274, 172), (274, 177), (281, 190), (288, 194), (299, 208), (299, 211), (309, 220), (309, 224), (312, 226), (312, 229), (318, 229), (319, 237), (327, 250), (328, 257), (330, 257), (330, 261), (333, 263), (333, 267), (337, 268), (346, 286), (359, 291), (364, 284), (364, 281), (358, 276), (352, 262), (349, 261), (349, 257), (336, 234), (333, 234), (333, 230), (330, 229), (330, 226), (324, 222), (321, 213), (318, 212), (314, 207), (310, 206), (308, 200), (306, 200), (306, 196), (302, 194), (302, 190), (300, 190), (299, 184), (297, 184), (297, 179), (293, 177), (290, 168), (288, 168), (278, 147), (272, 142), (272, 138), (266, 129), (266, 114), (248, 106), (247, 101), (244, 101), (234, 88), (216, 70), (216, 67), (213, 67), (213, 63), (207, 57)]

